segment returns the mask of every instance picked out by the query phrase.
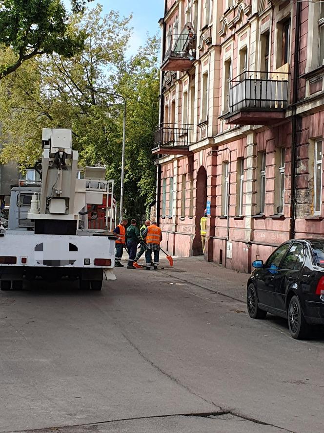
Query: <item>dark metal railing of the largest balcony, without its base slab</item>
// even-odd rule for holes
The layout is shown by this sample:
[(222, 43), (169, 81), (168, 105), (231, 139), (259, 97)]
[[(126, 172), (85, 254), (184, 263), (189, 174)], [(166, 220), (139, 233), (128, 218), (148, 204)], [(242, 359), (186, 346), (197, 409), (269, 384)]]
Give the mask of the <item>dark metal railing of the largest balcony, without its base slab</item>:
[(245, 71), (229, 82), (229, 111), (284, 110), (288, 105), (285, 72)]

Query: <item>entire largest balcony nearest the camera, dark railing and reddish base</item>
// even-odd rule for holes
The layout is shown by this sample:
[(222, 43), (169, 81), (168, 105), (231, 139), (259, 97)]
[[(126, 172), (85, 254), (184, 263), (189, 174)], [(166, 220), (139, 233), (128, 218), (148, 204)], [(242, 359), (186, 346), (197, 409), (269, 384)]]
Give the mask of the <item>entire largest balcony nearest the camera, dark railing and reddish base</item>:
[(285, 118), (288, 73), (246, 71), (229, 82), (230, 125), (274, 125)]

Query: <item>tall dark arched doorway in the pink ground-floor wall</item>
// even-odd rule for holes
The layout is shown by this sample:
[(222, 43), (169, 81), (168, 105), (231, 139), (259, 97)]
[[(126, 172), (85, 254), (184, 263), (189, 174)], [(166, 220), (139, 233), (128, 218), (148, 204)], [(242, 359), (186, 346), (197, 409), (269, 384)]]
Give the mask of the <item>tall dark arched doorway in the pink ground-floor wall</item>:
[(197, 184), (196, 184), (196, 233), (194, 242), (192, 245), (192, 255), (202, 255), (202, 238), (200, 235), (200, 219), (203, 216), (203, 212), (206, 208), (207, 201), (207, 172), (203, 165), (200, 167), (197, 173)]

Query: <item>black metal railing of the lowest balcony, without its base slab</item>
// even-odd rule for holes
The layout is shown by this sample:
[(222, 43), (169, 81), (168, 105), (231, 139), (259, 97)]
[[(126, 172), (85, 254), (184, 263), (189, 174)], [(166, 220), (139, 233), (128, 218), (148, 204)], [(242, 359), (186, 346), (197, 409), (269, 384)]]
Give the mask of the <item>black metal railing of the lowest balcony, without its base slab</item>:
[(161, 123), (155, 128), (154, 147), (188, 147), (192, 125)]

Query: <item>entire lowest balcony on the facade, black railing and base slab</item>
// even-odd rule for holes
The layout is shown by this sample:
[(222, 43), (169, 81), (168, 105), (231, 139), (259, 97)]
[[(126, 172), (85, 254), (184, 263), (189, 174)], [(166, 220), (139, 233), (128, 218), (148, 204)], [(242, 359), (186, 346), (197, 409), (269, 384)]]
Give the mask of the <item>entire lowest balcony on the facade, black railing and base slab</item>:
[(155, 128), (152, 153), (164, 155), (189, 155), (192, 125), (161, 123)]

